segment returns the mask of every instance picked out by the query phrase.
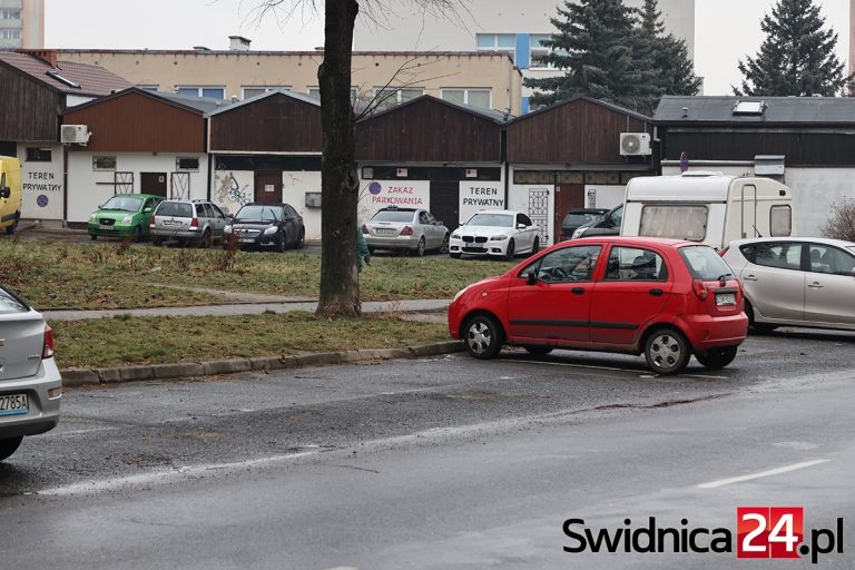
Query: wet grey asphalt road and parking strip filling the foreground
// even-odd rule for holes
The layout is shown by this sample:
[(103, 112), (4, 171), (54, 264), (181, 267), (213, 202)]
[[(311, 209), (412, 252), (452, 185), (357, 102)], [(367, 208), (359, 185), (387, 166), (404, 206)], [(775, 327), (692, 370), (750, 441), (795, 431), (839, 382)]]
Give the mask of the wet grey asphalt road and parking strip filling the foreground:
[(808, 538), (845, 519), (844, 552), (817, 567), (848, 569), (853, 347), (845, 333), (750, 337), (730, 367), (672, 377), (628, 356), (507, 353), (69, 391), (60, 426), (0, 466), (0, 560), (808, 568), (809, 554), (562, 550), (580, 546), (568, 519), (613, 534), (650, 517), (729, 529), (735, 549), (737, 507), (798, 505)]

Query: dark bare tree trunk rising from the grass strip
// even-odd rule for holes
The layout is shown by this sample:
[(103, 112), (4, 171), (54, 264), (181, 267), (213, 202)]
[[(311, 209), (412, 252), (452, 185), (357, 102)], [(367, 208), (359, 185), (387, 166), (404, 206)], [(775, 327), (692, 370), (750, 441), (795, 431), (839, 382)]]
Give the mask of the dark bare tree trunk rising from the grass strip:
[(360, 187), (351, 104), (353, 26), (358, 10), (356, 0), (325, 3), (324, 61), (317, 70), (324, 130), (318, 316), (353, 317), (362, 313), (356, 272)]

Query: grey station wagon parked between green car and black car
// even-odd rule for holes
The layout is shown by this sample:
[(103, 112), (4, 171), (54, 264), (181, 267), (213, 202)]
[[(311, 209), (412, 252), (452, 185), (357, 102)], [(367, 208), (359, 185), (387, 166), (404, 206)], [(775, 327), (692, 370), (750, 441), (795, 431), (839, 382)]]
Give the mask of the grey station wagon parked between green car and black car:
[(223, 240), (228, 218), (208, 200), (164, 200), (151, 216), (151, 243), (161, 245), (167, 239), (183, 244), (209, 247)]

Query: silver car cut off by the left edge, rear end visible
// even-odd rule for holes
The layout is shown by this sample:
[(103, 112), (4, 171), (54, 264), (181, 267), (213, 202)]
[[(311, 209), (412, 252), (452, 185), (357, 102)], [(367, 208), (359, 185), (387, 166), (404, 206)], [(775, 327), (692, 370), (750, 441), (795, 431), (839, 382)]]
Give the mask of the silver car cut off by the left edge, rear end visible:
[(24, 435), (57, 425), (61, 397), (53, 333), (41, 314), (0, 287), (0, 461)]

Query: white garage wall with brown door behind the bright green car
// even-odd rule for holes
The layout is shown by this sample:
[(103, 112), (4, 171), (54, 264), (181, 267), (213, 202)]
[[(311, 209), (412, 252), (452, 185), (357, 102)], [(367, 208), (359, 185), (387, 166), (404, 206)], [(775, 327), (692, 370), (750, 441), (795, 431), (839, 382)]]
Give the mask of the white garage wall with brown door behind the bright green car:
[[(116, 156), (116, 170), (95, 170), (94, 156)], [(208, 195), (208, 157), (194, 154), (151, 153), (69, 153), (68, 155), (68, 222), (88, 222), (89, 215), (116, 194), (116, 173), (134, 173), (134, 193), (140, 191), (140, 173), (163, 173), (167, 177), (167, 197), (173, 188), (170, 175), (176, 171), (177, 156), (198, 158), (198, 171), (181, 170), (190, 176), (189, 199), (205, 199)]]

